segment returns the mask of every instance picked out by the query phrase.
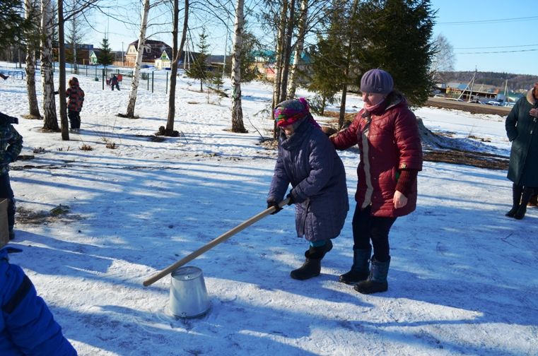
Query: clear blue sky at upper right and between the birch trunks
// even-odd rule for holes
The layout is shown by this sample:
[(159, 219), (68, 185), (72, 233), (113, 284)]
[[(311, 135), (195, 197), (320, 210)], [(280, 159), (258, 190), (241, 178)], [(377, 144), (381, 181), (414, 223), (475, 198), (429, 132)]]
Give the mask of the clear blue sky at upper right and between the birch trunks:
[[(454, 47), (456, 71), (495, 71), (538, 75), (538, 1), (537, 0), (432, 0), (437, 10), (434, 37), (444, 35)], [(97, 18), (96, 20), (100, 20)], [(138, 23), (139, 19), (134, 18)], [(233, 26), (233, 21), (230, 21)], [(106, 29), (106, 20), (98, 23), (97, 30)], [(165, 29), (166, 30), (166, 29)], [(209, 29), (211, 53), (223, 54), (226, 44), (225, 28)], [(198, 38), (193, 31), (193, 42)], [(138, 30), (122, 23), (109, 21), (109, 40), (112, 49), (127, 50), (136, 40)], [(99, 46), (102, 33), (93, 32), (86, 40)], [(161, 34), (153, 39), (171, 45), (171, 36)], [(228, 40), (228, 48), (230, 41)]]

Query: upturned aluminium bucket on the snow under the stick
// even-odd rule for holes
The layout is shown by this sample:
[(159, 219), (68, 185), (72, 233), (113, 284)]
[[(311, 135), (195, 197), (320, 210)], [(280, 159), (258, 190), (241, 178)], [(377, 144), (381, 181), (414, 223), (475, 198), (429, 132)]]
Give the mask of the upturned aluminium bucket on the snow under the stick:
[(170, 283), (170, 312), (180, 318), (194, 318), (209, 310), (204, 275), (192, 266), (180, 267), (172, 272)]

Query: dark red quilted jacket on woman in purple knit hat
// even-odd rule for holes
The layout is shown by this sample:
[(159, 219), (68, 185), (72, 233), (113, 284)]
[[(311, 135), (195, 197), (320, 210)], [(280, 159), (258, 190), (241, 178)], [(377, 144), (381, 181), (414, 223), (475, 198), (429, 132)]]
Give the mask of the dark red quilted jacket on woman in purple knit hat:
[(357, 167), (355, 200), (362, 208), (371, 203), (374, 216), (397, 217), (416, 208), (416, 181), (408, 194), (407, 205), (394, 208), (399, 170), (422, 170), (422, 145), (416, 117), (403, 95), (391, 93), (387, 105), (377, 111), (361, 109), (344, 131), (331, 138), (344, 150), (358, 144), (361, 162)]

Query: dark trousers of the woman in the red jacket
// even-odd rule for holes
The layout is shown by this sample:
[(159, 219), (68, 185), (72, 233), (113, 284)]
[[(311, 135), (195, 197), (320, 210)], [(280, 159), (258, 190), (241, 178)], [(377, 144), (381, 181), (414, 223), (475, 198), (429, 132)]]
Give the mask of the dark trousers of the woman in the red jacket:
[(369, 249), (373, 245), (375, 259), (380, 262), (390, 258), (389, 232), (396, 218), (382, 218), (370, 215), (370, 206), (361, 210), (355, 207), (353, 214), (353, 249)]

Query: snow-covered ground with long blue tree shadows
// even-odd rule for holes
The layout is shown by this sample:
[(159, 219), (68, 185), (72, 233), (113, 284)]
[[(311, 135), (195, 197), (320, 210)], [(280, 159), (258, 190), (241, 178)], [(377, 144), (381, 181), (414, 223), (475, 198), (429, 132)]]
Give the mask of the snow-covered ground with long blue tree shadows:
[[(307, 244), (285, 208), (189, 263), (204, 272), (211, 309), (175, 319), (170, 277), (142, 281), (266, 207), (275, 152), (258, 143), (272, 127), (263, 114), (271, 87), (242, 86), (249, 133), (237, 134), (228, 130), (229, 99), (180, 78), (175, 129), (185, 136), (156, 142), (164, 90), (139, 90), (140, 119), (124, 119), (116, 114), (127, 109), (127, 79), (119, 92), (79, 80), (86, 101), (71, 141), (42, 133), (41, 121), (17, 126), (22, 154), (35, 159), (11, 165), (12, 245), (23, 249), (11, 262), (80, 355), (538, 355), (538, 209), (505, 218), (505, 171), (424, 162), (418, 208), (392, 228), (389, 290), (361, 295), (338, 282), (352, 259), (353, 150), (340, 153), (351, 211), (320, 277), (289, 278)], [(348, 102), (349, 111), (362, 106), (360, 97)], [(0, 81), (0, 111), (28, 112), (23, 81)], [(503, 117), (431, 107), (416, 114), (466, 148), (472, 135), (508, 155)], [(69, 211), (49, 215), (60, 204)]]

